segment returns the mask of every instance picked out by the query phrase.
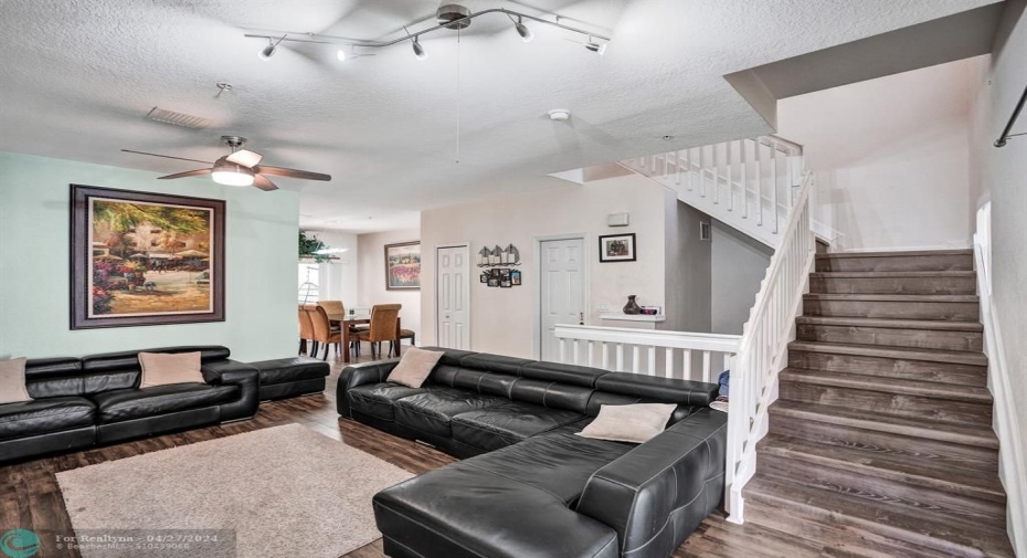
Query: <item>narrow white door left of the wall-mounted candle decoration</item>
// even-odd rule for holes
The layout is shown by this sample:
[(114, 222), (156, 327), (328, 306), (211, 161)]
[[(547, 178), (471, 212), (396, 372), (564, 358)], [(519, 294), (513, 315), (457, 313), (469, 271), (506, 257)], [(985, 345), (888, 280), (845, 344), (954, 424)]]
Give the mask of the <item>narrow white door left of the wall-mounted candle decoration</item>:
[(435, 251), (435, 317), (438, 346), (470, 349), (470, 262), (467, 246)]

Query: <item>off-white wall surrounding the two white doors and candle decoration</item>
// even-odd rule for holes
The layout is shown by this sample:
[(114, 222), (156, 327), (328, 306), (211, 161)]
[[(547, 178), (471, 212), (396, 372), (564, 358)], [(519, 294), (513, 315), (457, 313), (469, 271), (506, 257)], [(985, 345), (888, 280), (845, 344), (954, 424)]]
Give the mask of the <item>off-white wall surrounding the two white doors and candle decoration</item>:
[[(544, 179), (551, 180), (551, 179)], [(422, 327), (424, 343), (435, 337), (435, 246), (469, 242), (472, 254), (483, 246), (512, 243), (520, 251), (523, 284), (512, 288), (487, 287), (473, 274), (470, 285), (473, 350), (534, 358), (536, 239), (582, 233), (590, 265), (590, 312), (585, 323), (600, 325), (605, 305), (620, 310), (627, 295), (640, 305), (666, 306), (664, 189), (637, 177), (623, 176), (570, 186), (543, 193), (491, 199), (424, 211), (422, 239)], [(631, 227), (610, 228), (606, 215), (627, 211)], [(599, 235), (636, 234), (636, 262), (599, 263)], [(361, 248), (361, 253), (363, 249)], [(477, 269), (475, 269), (477, 272)], [(668, 309), (669, 310), (669, 309)]]

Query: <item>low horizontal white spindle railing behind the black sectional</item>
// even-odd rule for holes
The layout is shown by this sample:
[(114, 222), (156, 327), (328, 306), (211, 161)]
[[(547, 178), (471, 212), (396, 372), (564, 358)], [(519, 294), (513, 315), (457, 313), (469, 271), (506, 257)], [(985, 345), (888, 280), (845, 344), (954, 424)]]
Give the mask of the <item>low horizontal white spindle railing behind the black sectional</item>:
[(560, 361), (661, 378), (716, 382), (740, 335), (558, 325)]

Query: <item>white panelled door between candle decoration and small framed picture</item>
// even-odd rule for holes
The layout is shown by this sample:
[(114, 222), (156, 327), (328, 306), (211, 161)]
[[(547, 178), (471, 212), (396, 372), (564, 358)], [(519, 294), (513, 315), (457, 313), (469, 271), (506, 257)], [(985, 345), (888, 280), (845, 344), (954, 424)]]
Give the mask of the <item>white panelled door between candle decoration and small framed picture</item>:
[(584, 312), (584, 239), (548, 240), (540, 244), (541, 287), (539, 331), (541, 360), (560, 360), (557, 324), (578, 324)]

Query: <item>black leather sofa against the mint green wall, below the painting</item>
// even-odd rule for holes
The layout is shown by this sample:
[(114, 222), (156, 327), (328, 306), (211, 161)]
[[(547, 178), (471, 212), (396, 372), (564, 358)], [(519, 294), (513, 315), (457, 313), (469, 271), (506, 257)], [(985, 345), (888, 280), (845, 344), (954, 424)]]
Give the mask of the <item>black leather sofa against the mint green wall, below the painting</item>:
[(258, 371), (230, 360), (227, 348), (144, 350), (200, 351), (204, 382), (139, 389), (139, 350), (30, 359), (25, 387), (33, 399), (0, 404), (0, 463), (247, 419), (256, 413)]

